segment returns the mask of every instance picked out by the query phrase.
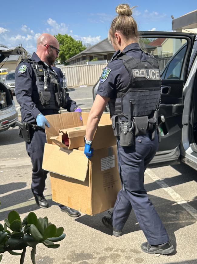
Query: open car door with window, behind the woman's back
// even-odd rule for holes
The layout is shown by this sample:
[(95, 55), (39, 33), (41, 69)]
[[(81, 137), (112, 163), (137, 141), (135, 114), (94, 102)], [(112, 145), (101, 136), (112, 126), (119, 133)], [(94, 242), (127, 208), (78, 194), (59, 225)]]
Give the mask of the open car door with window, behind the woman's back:
[[(158, 123), (161, 142), (152, 164), (179, 159), (182, 126), (185, 125), (182, 124), (183, 86), (194, 40), (195, 34), (192, 33), (141, 32), (141, 48), (155, 56), (161, 71)], [(162, 122), (162, 116), (165, 122)]]

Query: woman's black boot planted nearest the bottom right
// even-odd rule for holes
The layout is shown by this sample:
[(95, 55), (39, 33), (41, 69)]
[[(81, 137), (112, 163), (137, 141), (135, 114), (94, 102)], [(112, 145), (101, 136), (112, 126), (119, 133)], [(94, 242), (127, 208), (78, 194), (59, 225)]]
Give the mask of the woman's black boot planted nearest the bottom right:
[(169, 255), (171, 254), (175, 249), (173, 245), (170, 243), (170, 241), (163, 243), (161, 245), (150, 245), (148, 242), (142, 243), (141, 245), (142, 251), (148, 254), (163, 254), (163, 255)]

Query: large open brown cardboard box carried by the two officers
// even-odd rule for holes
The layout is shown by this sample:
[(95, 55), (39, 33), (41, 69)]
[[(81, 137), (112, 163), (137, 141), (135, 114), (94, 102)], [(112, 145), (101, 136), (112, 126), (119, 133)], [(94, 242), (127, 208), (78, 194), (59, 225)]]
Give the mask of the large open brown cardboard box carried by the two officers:
[[(103, 114), (94, 135), (94, 156), (88, 160), (83, 147), (68, 149), (58, 138), (59, 130), (86, 125), (89, 113), (64, 113), (46, 116), (43, 169), (50, 172), (52, 199), (88, 215), (95, 215), (114, 206), (121, 189), (116, 138), (109, 114)], [(79, 132), (79, 145), (81, 143)], [(75, 136), (77, 139), (77, 136)], [(84, 146), (84, 143), (83, 143)]]

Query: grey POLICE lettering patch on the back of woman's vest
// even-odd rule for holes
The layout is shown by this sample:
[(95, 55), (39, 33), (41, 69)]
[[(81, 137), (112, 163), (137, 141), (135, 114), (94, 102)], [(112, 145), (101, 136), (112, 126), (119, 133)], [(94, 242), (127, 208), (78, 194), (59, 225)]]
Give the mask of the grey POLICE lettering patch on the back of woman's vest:
[(146, 78), (148, 80), (160, 80), (159, 69), (134, 69), (133, 78)]

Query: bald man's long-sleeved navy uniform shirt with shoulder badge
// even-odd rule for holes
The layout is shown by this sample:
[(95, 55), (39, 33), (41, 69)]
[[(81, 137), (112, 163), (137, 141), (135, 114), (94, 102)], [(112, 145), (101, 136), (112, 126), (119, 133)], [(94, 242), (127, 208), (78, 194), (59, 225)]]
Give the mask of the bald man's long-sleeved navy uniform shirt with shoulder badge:
[[(34, 52), (32, 54), (31, 60), (37, 62), (38, 64), (42, 64), (46, 69), (48, 67), (45, 62), (41, 61), (38, 55)], [(52, 70), (52, 68), (51, 68)], [(35, 73), (29, 62), (21, 62), (15, 71), (15, 94), (16, 100), (21, 106), (21, 117), (22, 122), (35, 122), (35, 119), (38, 114), (42, 113), (43, 115), (49, 114), (58, 114), (57, 110), (51, 109), (43, 109), (39, 110), (36, 107), (36, 103), (39, 101), (39, 94), (37, 86), (35, 85), (36, 78)], [(67, 94), (68, 95), (68, 94)], [(76, 102), (71, 100), (69, 96), (67, 96), (67, 105), (66, 109), (70, 112), (75, 109)]]

